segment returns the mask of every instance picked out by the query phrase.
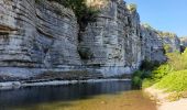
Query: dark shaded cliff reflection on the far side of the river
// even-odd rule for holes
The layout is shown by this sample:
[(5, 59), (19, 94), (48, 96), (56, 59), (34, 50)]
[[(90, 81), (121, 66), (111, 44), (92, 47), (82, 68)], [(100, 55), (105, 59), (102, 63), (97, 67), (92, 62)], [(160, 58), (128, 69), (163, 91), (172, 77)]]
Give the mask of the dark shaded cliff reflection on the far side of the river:
[(0, 91), (0, 110), (8, 107), (38, 105), (44, 102), (82, 100), (97, 95), (117, 94), (128, 90), (131, 90), (130, 81), (26, 87), (16, 90)]

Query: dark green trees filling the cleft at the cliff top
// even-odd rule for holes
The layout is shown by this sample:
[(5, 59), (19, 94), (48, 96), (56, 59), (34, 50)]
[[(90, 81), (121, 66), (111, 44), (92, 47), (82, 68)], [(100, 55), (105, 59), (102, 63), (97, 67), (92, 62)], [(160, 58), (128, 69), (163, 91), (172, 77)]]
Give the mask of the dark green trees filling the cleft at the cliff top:
[[(77, 22), (79, 24), (80, 32), (85, 31), (85, 29), (89, 22), (95, 22), (98, 16), (98, 13), (99, 13), (99, 10), (97, 8), (87, 6), (86, 0), (48, 0), (48, 1), (56, 1), (61, 4), (63, 4), (64, 7), (72, 9), (77, 18)], [(40, 3), (43, 1), (35, 0), (35, 2)], [(58, 12), (58, 11), (59, 10), (56, 10), (56, 12)], [(81, 40), (81, 38), (79, 37), (79, 40)]]

